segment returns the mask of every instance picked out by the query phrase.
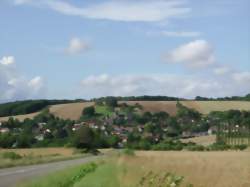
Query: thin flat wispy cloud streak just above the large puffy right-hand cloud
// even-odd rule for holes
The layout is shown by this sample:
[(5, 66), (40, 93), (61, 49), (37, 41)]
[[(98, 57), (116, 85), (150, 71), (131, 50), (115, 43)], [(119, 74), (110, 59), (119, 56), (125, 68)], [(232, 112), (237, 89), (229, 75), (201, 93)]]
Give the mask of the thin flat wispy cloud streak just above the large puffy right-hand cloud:
[(201, 35), (200, 32), (189, 32), (189, 31), (149, 31), (148, 36), (165, 36), (165, 37), (198, 37)]

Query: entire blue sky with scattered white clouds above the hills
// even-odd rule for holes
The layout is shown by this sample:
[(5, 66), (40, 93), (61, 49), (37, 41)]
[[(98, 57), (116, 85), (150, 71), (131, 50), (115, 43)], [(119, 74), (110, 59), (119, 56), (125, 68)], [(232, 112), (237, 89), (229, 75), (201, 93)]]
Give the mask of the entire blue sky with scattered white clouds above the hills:
[(0, 102), (250, 93), (249, 0), (1, 0)]

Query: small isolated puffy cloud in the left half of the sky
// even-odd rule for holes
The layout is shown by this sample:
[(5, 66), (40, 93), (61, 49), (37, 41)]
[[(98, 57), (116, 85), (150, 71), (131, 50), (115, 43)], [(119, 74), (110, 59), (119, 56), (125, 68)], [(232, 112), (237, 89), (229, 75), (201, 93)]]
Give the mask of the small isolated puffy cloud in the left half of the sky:
[(70, 55), (81, 54), (90, 49), (90, 45), (87, 42), (82, 41), (80, 38), (72, 38), (69, 41), (69, 46), (66, 52)]

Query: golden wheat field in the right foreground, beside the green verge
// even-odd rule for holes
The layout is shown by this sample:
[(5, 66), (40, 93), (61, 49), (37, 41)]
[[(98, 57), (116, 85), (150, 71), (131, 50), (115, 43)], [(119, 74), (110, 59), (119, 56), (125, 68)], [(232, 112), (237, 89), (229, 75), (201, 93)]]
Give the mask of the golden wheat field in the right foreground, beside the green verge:
[(195, 187), (249, 187), (250, 152), (164, 152), (137, 151), (135, 157), (119, 160), (129, 172), (123, 181), (137, 181), (138, 176), (172, 172), (184, 176), (183, 186)]

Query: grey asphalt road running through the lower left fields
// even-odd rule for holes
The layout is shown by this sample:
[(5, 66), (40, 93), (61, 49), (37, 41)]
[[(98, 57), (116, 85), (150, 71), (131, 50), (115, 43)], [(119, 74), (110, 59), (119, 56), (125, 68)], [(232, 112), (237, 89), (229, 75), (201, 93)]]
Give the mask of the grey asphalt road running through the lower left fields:
[(90, 156), (76, 160), (0, 169), (0, 187), (18, 187), (20, 182), (33, 179), (34, 177), (46, 175), (57, 170), (65, 169), (70, 166), (91, 162), (97, 158), (100, 157)]

